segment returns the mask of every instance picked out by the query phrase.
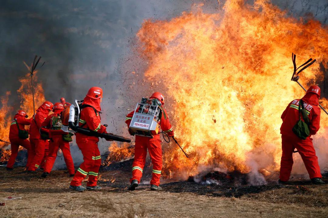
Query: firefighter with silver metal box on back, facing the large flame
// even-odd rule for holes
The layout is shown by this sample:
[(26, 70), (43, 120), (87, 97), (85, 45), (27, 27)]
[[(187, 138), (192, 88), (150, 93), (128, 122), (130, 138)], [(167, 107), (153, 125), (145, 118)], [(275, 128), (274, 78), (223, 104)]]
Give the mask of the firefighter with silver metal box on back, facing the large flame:
[(136, 110), (126, 116), (125, 123), (129, 133), (135, 136), (134, 161), (132, 164), (132, 177), (130, 191), (134, 191), (140, 183), (142, 171), (146, 163), (147, 149), (153, 163), (151, 190), (161, 190), (159, 186), (162, 171), (162, 146), (159, 136), (159, 127), (168, 136), (174, 137), (174, 131), (167, 116), (164, 105), (164, 96), (154, 92), (152, 96), (142, 98)]

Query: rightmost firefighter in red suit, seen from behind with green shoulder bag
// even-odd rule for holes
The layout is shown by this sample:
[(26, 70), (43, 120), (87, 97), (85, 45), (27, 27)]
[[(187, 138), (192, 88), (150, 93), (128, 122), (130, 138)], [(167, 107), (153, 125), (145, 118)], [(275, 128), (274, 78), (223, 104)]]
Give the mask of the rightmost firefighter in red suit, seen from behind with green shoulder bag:
[[(309, 173), (310, 179), (315, 184), (324, 183), (321, 180), (320, 167), (318, 157), (313, 147), (311, 135), (315, 135), (320, 128), (320, 108), (318, 101), (320, 97), (320, 88), (316, 85), (311, 86), (304, 97), (304, 109), (308, 114), (310, 124), (310, 136), (302, 140), (293, 132), (293, 127), (299, 120), (298, 105), (299, 100), (293, 100), (281, 115), (282, 125), (280, 127), (282, 139), (282, 156), (280, 162), (279, 181), (285, 183), (289, 180), (293, 166), (293, 151), (296, 148), (305, 164), (306, 170)], [(303, 118), (301, 117), (303, 120)]]

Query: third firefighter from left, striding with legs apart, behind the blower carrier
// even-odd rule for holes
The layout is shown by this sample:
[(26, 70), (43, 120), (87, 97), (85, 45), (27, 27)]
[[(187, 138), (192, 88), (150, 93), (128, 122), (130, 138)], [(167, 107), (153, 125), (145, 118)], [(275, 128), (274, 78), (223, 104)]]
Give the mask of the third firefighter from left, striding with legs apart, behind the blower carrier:
[[(42, 130), (49, 133), (49, 154), (46, 157), (44, 170), (41, 177), (47, 177), (51, 172), (52, 166), (55, 163), (58, 149), (63, 152), (64, 160), (70, 176), (74, 176), (74, 162), (71, 156), (70, 143), (72, 136), (61, 130), (60, 113), (64, 110), (64, 106), (57, 102), (53, 105), (53, 114), (49, 115), (41, 124)], [(65, 137), (64, 137), (65, 136)]]

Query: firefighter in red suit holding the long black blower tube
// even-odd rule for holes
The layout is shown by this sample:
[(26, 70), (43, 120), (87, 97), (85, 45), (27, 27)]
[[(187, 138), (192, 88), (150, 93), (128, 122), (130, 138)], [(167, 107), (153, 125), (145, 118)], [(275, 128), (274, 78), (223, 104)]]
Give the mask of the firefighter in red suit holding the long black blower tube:
[[(88, 91), (81, 106), (79, 126), (88, 128), (91, 131), (98, 133), (106, 133), (106, 127), (101, 125), (100, 118), (100, 102), (103, 96), (103, 91), (99, 87), (92, 87)], [(76, 191), (84, 191), (85, 188), (81, 185), (82, 180), (89, 175), (87, 189), (101, 189), (97, 186), (97, 176), (101, 165), (101, 156), (98, 149), (99, 138), (96, 136), (88, 136), (81, 133), (75, 133), (76, 143), (82, 152), (84, 162), (77, 169), (70, 185), (70, 189)]]

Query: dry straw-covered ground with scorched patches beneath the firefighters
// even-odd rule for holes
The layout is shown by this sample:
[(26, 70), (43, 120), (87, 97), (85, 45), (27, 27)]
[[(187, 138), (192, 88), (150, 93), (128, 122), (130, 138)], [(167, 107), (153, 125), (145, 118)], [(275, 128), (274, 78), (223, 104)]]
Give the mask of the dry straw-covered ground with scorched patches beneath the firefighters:
[(328, 213), (327, 184), (165, 181), (162, 191), (141, 184), (131, 192), (127, 190), (130, 172), (103, 169), (101, 191), (78, 193), (68, 189), (72, 178), (65, 171), (52, 171), (46, 179), (40, 178), (41, 173), (0, 167), (0, 203), (5, 203), (0, 217), (327, 217)]

